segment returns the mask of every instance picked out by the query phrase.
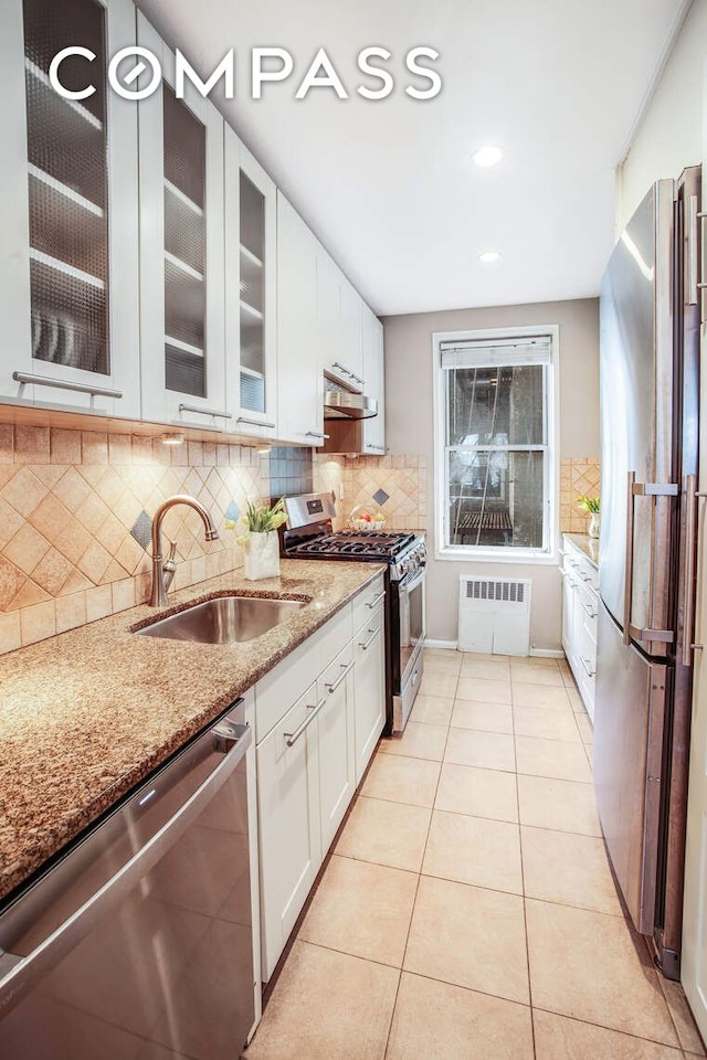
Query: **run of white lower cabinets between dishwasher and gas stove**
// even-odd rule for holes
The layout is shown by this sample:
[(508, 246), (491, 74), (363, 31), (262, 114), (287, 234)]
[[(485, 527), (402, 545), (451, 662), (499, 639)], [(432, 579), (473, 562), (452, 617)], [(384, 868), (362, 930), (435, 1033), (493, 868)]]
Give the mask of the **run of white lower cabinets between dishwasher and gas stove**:
[[(263, 981), (273, 974), (386, 718), (382, 576), (255, 686)], [(363, 606), (367, 606), (366, 604)], [(292, 704), (293, 697), (296, 702)]]

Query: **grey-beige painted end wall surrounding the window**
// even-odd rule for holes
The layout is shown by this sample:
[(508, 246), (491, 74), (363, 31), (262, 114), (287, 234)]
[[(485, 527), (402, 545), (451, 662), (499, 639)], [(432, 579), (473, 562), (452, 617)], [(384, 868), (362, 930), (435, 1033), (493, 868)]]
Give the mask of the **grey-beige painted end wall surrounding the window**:
[[(419, 453), (434, 467), (432, 333), (474, 328), (558, 325), (560, 344), (560, 458), (599, 455), (599, 304), (578, 301), (458, 309), (387, 317), (386, 433), (393, 456)], [(428, 508), (433, 510), (434, 477), (428, 477)], [(433, 518), (428, 520), (433, 539)], [(434, 540), (431, 540), (434, 552)], [(557, 649), (561, 635), (561, 590), (556, 565), (435, 560), (428, 579), (428, 635), (456, 640), (461, 574), (532, 580), (530, 637), (535, 648)]]

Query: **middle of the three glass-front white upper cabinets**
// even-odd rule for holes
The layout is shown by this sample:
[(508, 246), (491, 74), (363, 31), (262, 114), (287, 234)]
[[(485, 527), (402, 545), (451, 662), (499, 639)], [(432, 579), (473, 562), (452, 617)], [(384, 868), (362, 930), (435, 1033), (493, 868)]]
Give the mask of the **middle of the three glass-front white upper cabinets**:
[(138, 14), (162, 83), (139, 104), (143, 417), (224, 430), (223, 118)]

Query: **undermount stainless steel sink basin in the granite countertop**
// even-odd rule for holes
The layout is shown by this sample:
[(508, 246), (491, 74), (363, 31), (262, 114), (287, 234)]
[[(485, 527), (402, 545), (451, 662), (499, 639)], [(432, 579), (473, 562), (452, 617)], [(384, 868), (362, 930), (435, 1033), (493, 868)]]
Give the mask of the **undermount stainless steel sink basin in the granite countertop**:
[(236, 644), (254, 640), (305, 606), (303, 600), (263, 596), (217, 596), (137, 629), (144, 637), (197, 640), (200, 644)]

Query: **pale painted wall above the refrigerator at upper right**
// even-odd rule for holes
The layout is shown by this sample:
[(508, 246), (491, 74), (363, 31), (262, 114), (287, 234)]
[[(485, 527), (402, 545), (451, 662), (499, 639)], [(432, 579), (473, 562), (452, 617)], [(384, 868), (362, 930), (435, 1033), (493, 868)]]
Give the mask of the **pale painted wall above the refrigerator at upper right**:
[(654, 180), (701, 161), (701, 100), (707, 62), (707, 0), (694, 0), (641, 119), (616, 183), (621, 232)]

